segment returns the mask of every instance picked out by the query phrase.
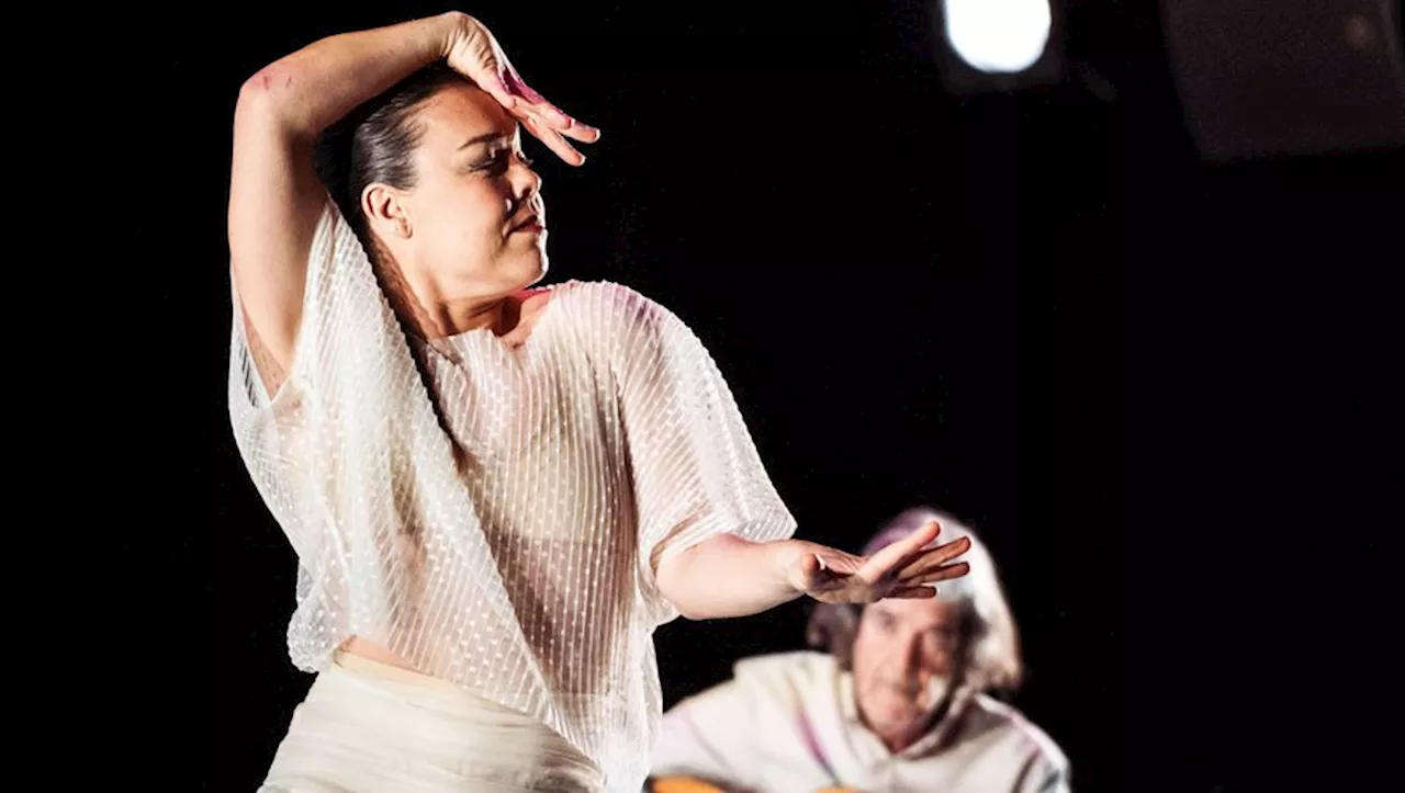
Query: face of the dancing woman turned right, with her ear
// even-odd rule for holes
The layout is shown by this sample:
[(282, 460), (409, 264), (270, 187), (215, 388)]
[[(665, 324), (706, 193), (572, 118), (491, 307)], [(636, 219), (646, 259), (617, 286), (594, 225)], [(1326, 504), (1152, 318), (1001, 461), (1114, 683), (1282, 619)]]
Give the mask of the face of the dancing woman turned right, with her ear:
[(371, 185), (362, 195), (371, 226), (412, 288), (454, 302), (495, 299), (540, 281), (547, 212), (516, 119), (464, 83), (426, 100), (413, 121), (423, 129), (414, 185)]

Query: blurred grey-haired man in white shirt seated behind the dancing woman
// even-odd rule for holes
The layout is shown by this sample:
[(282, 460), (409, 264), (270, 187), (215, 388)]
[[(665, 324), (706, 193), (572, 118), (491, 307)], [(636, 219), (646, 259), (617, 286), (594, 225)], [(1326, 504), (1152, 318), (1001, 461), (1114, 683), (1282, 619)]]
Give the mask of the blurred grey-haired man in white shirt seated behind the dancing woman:
[(864, 554), (937, 519), (969, 536), (971, 573), (936, 598), (815, 608), (812, 646), (746, 658), (733, 678), (665, 714), (651, 790), (683, 793), (1066, 793), (1059, 747), (1017, 709), (1014, 619), (995, 564), (965, 525), (898, 515)]

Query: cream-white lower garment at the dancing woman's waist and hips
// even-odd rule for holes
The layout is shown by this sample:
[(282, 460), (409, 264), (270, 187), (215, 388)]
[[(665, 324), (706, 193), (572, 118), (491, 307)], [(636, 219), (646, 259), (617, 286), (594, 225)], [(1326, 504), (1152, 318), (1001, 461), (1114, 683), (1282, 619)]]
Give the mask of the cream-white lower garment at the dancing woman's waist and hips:
[(450, 682), (339, 654), (294, 710), (259, 793), (599, 793), (544, 724)]

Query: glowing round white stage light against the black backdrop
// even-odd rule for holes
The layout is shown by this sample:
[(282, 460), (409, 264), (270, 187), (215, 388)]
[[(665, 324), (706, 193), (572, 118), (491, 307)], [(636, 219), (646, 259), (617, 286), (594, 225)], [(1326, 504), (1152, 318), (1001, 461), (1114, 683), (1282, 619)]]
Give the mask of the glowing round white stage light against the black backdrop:
[(951, 48), (985, 73), (1024, 72), (1048, 46), (1048, 0), (946, 0), (941, 13)]

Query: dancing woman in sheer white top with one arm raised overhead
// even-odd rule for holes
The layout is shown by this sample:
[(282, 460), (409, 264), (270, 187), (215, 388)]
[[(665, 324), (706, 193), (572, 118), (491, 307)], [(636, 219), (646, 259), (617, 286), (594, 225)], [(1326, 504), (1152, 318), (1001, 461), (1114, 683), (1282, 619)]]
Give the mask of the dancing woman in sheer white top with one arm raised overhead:
[(334, 35), (235, 112), (233, 431), (298, 554), (318, 672), (264, 790), (636, 792), (679, 615), (932, 597), (939, 526), (870, 557), (792, 539), (698, 338), (547, 271), (520, 128), (599, 132), (448, 13)]

